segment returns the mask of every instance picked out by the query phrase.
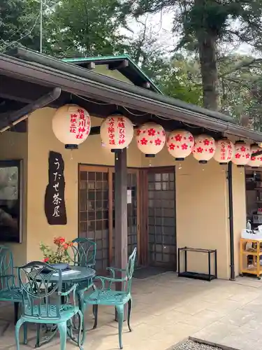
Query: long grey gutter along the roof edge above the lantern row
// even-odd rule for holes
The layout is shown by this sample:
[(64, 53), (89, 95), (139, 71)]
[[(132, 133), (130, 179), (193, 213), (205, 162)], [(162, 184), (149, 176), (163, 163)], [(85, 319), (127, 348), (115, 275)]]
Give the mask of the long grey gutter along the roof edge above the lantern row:
[(94, 71), (88, 71), (87, 69), (83, 69), (79, 66), (75, 66), (75, 64), (63, 62), (59, 59), (55, 59), (48, 55), (40, 54), (33, 50), (27, 50), (25, 48), (17, 48), (13, 50), (11, 53), (12, 55), (15, 55), (15, 57), (20, 57), (30, 62), (43, 64), (43, 66), (49, 66), (59, 71), (65, 71), (66, 73), (71, 73), (75, 76), (80, 76), (81, 78), (94, 80), (97, 83), (110, 85), (117, 89), (123, 89), (123, 85), (124, 85), (124, 90), (126, 90), (126, 92), (131, 92), (133, 94), (141, 94), (142, 96), (148, 97), (150, 99), (156, 99), (158, 102), (163, 102), (164, 104), (171, 104), (173, 106), (179, 107), (181, 109), (185, 109), (190, 112), (199, 113), (203, 116), (224, 120), (229, 123), (235, 123), (235, 120), (233, 118), (226, 116), (223, 113), (210, 111), (208, 109), (203, 109), (201, 107), (195, 106), (194, 104), (187, 104), (186, 102), (182, 102), (179, 99), (173, 99), (170, 97), (166, 97), (163, 94), (157, 94), (147, 89), (133, 86), (128, 83), (123, 83), (122, 81), (119, 81), (117, 79), (103, 76), (102, 74), (95, 73)]

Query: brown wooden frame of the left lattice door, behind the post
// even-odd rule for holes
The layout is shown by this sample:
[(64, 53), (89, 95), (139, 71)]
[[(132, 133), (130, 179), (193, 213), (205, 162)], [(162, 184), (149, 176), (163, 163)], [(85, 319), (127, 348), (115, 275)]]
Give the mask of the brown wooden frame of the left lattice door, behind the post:
[[(78, 237), (80, 234), (80, 172), (106, 172), (108, 173), (108, 260), (109, 264), (112, 265), (112, 174), (115, 172), (115, 167), (112, 165), (92, 165), (78, 163)], [(138, 235), (138, 262), (140, 262), (140, 168), (127, 167), (128, 174), (136, 174), (137, 176), (137, 186), (136, 186), (136, 200), (137, 200), (137, 223), (136, 230)]]

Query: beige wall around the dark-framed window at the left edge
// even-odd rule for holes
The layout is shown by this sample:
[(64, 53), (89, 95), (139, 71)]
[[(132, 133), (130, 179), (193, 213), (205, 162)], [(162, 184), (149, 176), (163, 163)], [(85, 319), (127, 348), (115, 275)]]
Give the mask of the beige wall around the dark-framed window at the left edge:
[(22, 160), (22, 244), (9, 243), (15, 265), (27, 261), (27, 133), (3, 132), (0, 134), (0, 160)]

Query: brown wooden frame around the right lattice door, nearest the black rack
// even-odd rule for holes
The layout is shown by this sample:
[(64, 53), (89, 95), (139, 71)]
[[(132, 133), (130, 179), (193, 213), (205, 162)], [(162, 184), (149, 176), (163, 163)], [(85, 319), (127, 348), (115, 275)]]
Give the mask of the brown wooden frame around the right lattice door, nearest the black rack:
[[(141, 191), (141, 207), (143, 214), (145, 216), (141, 218), (141, 233), (140, 236), (142, 237), (141, 241), (141, 251), (143, 252), (142, 255), (142, 260), (143, 260), (143, 265), (148, 266), (150, 261), (149, 261), (149, 232), (148, 232), (148, 174), (149, 173), (173, 173), (174, 174), (174, 206), (175, 206), (175, 246), (177, 250), (177, 209), (176, 209), (176, 178), (175, 178), (175, 165), (170, 166), (170, 167), (147, 167), (147, 168), (141, 168), (140, 169), (140, 188), (143, 190)], [(177, 252), (176, 252), (177, 255)], [(176, 262), (177, 265), (177, 262)]]

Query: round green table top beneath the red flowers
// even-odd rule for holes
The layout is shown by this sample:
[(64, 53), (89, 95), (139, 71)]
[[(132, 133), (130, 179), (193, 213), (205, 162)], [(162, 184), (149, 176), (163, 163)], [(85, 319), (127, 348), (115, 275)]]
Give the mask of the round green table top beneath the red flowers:
[[(92, 279), (94, 276), (96, 276), (96, 270), (91, 269), (90, 267), (70, 266), (70, 268), (71, 270), (61, 272), (63, 282), (78, 283), (85, 281), (86, 279)], [(58, 274), (52, 275), (50, 282), (52, 281), (58, 281)]]

